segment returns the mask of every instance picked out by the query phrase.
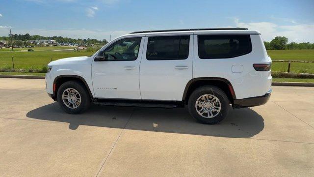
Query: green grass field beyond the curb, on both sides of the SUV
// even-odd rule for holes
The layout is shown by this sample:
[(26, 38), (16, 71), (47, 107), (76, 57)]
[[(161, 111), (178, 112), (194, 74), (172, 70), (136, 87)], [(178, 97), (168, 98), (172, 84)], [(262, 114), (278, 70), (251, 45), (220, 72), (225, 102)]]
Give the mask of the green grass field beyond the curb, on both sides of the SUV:
[[(27, 50), (28, 48), (15, 48), (18, 50)], [(40, 68), (47, 66), (52, 60), (89, 56), (94, 52), (81, 51), (53, 51), (62, 49), (71, 49), (71, 47), (35, 47), (31, 48), (38, 52), (1, 52), (10, 51), (9, 48), (0, 49), (0, 71), (10, 71), (12, 68), (12, 56), (16, 70), (21, 72), (31, 70), (39, 71)], [(268, 55), (275, 60), (311, 60), (314, 61), (314, 50), (268, 50)], [(288, 62), (273, 62), (272, 71), (287, 72)], [(290, 67), (291, 72), (299, 73), (314, 73), (314, 63), (297, 63), (292, 62)]]

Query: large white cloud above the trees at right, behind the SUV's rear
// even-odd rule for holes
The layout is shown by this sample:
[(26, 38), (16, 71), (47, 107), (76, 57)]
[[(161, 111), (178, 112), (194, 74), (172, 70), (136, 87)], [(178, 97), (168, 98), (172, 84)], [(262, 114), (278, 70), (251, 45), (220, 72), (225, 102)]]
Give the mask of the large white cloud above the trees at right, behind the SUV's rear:
[(298, 24), (291, 21), (291, 25), (278, 25), (272, 22), (240, 22), (234, 19), (235, 26), (258, 30), (264, 41), (270, 41), (276, 36), (286, 36), (289, 42), (314, 42), (314, 24)]

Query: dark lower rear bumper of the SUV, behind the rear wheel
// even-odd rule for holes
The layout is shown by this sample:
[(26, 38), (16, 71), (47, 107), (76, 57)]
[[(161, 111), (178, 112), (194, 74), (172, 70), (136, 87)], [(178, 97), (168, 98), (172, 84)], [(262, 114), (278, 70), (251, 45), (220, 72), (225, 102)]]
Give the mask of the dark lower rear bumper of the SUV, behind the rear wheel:
[(267, 93), (265, 93), (262, 96), (235, 99), (233, 107), (236, 109), (263, 105), (269, 100), (271, 91), (272, 90), (270, 89), (269, 91), (267, 91)]

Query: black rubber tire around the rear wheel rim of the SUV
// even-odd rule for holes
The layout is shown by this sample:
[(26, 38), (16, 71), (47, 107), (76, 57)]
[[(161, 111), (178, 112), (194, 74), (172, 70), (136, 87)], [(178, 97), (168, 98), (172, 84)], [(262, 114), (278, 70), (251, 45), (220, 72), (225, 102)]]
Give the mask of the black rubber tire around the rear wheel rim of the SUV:
[[(211, 94), (215, 97), (218, 98), (218, 100), (221, 103), (221, 109), (220, 112), (215, 112), (216, 115), (213, 118), (204, 118), (202, 117), (200, 114), (198, 114), (197, 109), (196, 109), (196, 101), (198, 100), (199, 97), (201, 97), (202, 95), (205, 94)], [(215, 87), (215, 86), (202, 86), (198, 89), (195, 89), (192, 94), (190, 95), (189, 99), (188, 99), (188, 111), (190, 113), (190, 115), (195, 118), (196, 120), (198, 120), (201, 123), (205, 123), (205, 124), (215, 124), (220, 122), (221, 120), (223, 120), (229, 110), (229, 99), (228, 96), (226, 95), (226, 93), (224, 91), (222, 91), (221, 89)], [(218, 114), (217, 114), (218, 113)], [(204, 113), (203, 113), (204, 114)], [(208, 113), (205, 112), (204, 115), (207, 115)], [(203, 116), (204, 116), (203, 115)]]

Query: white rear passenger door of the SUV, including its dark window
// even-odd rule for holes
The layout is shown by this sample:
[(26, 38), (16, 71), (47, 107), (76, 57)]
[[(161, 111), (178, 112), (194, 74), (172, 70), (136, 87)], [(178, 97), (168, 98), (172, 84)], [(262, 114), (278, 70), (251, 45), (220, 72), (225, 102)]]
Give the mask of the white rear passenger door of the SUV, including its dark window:
[(146, 100), (182, 100), (192, 79), (193, 33), (145, 37), (140, 91)]

